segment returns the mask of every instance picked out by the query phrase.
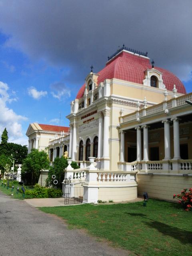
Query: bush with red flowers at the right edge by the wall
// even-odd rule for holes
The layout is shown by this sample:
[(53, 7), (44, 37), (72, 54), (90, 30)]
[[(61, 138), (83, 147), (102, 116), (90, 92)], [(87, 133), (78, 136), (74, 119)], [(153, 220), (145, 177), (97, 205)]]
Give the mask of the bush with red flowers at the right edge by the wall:
[(182, 204), (186, 211), (192, 210), (192, 188), (184, 188), (180, 194), (174, 194), (173, 198), (179, 200), (179, 204)]

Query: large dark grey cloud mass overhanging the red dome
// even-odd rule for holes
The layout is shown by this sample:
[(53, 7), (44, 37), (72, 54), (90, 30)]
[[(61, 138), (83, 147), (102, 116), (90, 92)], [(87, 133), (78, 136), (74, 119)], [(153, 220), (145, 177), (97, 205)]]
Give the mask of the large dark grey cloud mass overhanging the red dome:
[(83, 82), (118, 46), (148, 51), (157, 66), (188, 80), (192, 70), (191, 0), (2, 0), (7, 46), (34, 60), (68, 68), (65, 82)]

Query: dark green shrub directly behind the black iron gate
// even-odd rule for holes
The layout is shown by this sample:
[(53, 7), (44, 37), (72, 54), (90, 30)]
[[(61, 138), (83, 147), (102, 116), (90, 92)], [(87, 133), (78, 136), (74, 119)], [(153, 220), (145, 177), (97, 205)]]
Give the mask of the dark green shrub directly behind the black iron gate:
[[(50, 166), (48, 178), (51, 180), (52, 175), (56, 176), (56, 180), (58, 180), (59, 186), (62, 186), (62, 182), (64, 180), (64, 169), (68, 166), (67, 158), (63, 156), (61, 158), (56, 157), (53, 163), (53, 166)], [(79, 166), (76, 162), (71, 163), (72, 168), (78, 169)]]

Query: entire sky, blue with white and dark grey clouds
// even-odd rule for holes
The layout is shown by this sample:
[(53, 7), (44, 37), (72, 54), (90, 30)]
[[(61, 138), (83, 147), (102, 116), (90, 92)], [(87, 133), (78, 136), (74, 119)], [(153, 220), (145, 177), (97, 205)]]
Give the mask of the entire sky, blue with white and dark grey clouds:
[(192, 92), (191, 27), (188, 0), (0, 0), (0, 133), (28, 144), (32, 122), (68, 126), (90, 66), (101, 70), (122, 44), (148, 51)]

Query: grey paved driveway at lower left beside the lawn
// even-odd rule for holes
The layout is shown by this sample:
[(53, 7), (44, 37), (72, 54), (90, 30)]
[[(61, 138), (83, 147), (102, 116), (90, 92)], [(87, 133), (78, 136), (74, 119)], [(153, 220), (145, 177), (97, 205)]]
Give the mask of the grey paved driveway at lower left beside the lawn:
[(125, 256), (128, 252), (68, 230), (57, 217), (0, 192), (0, 256)]

